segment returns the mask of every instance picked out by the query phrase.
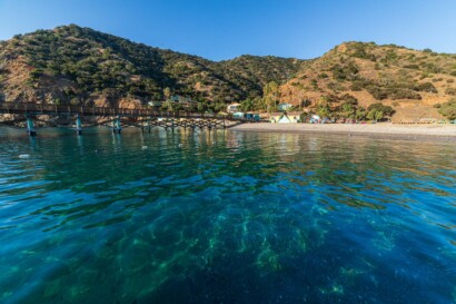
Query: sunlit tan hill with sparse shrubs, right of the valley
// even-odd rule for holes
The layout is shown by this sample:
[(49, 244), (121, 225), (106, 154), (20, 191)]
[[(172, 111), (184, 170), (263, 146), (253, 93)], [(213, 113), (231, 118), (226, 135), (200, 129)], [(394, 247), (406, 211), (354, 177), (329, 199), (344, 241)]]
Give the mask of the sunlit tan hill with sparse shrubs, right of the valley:
[(281, 87), (282, 101), (294, 105), (338, 107), (355, 97), (366, 108), (393, 107), (395, 120), (440, 118), (436, 107), (455, 96), (456, 55), (373, 42), (343, 43), (305, 62)]

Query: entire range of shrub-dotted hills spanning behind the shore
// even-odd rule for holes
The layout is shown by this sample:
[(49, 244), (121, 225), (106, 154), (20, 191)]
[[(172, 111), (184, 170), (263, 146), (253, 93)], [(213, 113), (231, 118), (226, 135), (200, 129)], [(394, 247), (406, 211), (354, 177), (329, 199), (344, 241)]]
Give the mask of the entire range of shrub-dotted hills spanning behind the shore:
[(275, 104), (353, 117), (383, 102), (395, 120), (442, 118), (438, 104), (456, 96), (456, 55), (347, 42), (314, 60), (215, 62), (75, 24), (0, 42), (0, 99), (11, 102), (140, 107), (169, 87), (215, 109), (249, 98), (265, 110), (270, 81), (280, 85)]

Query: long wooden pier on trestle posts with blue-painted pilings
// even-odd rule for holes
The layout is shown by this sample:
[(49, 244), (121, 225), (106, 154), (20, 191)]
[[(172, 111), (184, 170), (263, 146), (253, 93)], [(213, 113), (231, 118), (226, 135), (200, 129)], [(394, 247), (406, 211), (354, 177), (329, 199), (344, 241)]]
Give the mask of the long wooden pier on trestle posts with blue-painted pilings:
[[(108, 126), (113, 133), (120, 134), (125, 127), (138, 127), (150, 131), (153, 127), (165, 129), (226, 129), (251, 121), (234, 118), (229, 115), (169, 112), (151, 109), (125, 109), (103, 107), (75, 107), (40, 104), (1, 102), (0, 115), (10, 115), (10, 120), (0, 121), (0, 126), (26, 126), (30, 136), (37, 134), (33, 121), (52, 127), (71, 127), (78, 135), (83, 127)], [(42, 119), (48, 116), (49, 119)], [(63, 121), (63, 122), (62, 122)]]

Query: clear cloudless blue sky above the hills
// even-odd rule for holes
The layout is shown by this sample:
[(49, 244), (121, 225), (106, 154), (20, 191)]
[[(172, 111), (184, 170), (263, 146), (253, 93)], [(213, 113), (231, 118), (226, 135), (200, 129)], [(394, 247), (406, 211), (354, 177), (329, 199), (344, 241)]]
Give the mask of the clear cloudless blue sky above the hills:
[(0, 40), (77, 23), (212, 60), (354, 40), (456, 53), (455, 16), (455, 0), (0, 0)]

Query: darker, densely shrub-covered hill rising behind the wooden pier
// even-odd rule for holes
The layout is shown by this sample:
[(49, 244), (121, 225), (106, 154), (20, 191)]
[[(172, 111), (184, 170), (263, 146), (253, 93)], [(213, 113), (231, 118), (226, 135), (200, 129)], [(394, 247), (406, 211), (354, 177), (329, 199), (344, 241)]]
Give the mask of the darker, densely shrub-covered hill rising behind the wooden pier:
[(260, 96), (264, 85), (286, 80), (303, 62), (255, 56), (214, 62), (71, 24), (2, 41), (0, 92), (6, 101), (115, 106), (161, 100), (169, 87), (225, 104)]

